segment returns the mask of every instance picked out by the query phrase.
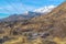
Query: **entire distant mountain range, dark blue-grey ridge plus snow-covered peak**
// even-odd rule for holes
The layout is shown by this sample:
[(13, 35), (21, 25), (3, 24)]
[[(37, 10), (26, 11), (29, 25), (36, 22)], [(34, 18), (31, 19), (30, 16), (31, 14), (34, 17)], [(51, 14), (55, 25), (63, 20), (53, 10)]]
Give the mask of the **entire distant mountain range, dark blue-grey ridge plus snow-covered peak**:
[(33, 12), (32, 11), (26, 11), (25, 13), (22, 13), (22, 14), (12, 14), (12, 15), (10, 15), (8, 18), (4, 18), (0, 21), (28, 20), (28, 19), (32, 19), (32, 18), (35, 18), (35, 16), (40, 16), (42, 14), (47, 14), (54, 8), (55, 8), (55, 6), (50, 6), (50, 7), (44, 7), (44, 8), (41, 8), (41, 9), (36, 9)]

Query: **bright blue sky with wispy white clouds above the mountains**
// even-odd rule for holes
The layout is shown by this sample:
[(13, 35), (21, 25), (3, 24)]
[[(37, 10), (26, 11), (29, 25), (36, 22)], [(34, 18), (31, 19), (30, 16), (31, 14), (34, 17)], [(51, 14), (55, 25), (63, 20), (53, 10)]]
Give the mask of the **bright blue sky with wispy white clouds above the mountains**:
[(14, 13), (33, 11), (45, 6), (58, 6), (64, 0), (0, 0), (0, 19)]

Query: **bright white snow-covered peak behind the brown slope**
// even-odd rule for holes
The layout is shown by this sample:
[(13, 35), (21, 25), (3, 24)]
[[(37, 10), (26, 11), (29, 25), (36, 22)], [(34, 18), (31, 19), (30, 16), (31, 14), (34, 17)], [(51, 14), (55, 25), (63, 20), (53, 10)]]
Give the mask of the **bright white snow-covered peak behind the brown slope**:
[(34, 12), (48, 13), (48, 12), (51, 12), (54, 8), (56, 8), (56, 6), (47, 6), (47, 7), (43, 7), (43, 8), (40, 8), (40, 9), (35, 9)]

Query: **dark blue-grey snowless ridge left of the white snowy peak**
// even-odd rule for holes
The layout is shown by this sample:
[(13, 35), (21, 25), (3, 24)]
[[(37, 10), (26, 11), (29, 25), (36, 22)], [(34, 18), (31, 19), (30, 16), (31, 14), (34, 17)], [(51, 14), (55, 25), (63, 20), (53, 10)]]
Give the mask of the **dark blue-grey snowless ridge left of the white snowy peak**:
[(21, 21), (21, 20), (29, 20), (38, 15), (41, 15), (41, 13), (29, 11), (28, 13), (25, 12), (23, 14), (12, 14), (8, 18), (1, 19), (0, 21)]

